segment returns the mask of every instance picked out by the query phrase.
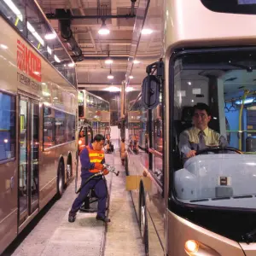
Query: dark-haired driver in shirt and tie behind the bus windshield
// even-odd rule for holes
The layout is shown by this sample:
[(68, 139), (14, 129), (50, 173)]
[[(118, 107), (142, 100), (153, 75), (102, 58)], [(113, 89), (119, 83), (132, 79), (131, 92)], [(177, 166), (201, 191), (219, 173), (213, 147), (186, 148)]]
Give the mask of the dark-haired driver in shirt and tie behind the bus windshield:
[(208, 127), (211, 119), (210, 108), (207, 104), (197, 103), (194, 106), (194, 126), (183, 131), (179, 136), (178, 148), (184, 161), (195, 156), (198, 150), (212, 146), (227, 147), (229, 145), (224, 136)]

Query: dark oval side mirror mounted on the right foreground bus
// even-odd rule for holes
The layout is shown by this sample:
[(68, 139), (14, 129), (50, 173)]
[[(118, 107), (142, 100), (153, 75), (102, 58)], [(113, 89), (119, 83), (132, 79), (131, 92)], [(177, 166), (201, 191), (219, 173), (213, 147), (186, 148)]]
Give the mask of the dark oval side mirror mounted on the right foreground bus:
[(148, 109), (156, 108), (160, 103), (160, 80), (154, 75), (143, 79), (142, 102), (143, 107)]

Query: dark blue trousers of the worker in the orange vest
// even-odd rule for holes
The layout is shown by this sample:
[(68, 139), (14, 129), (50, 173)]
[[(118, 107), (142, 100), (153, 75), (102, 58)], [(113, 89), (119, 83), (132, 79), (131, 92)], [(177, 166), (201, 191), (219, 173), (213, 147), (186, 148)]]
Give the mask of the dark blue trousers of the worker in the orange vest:
[[(81, 186), (85, 183), (87, 178), (82, 178)], [(88, 195), (90, 189), (95, 189), (96, 196), (98, 198), (98, 210), (97, 216), (105, 217), (106, 212), (106, 202), (108, 197), (107, 183), (101, 178), (92, 178), (89, 183), (85, 184), (81, 189), (79, 196), (73, 201), (73, 205), (71, 207), (71, 213), (76, 213), (79, 211), (79, 208), (82, 206), (86, 196)]]

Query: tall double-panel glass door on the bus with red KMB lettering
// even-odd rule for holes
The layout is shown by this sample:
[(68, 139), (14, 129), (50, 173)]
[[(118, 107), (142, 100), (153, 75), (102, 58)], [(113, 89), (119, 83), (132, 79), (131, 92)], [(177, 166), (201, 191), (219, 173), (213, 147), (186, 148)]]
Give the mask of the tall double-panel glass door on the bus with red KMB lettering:
[(20, 96), (19, 224), (38, 208), (39, 102)]

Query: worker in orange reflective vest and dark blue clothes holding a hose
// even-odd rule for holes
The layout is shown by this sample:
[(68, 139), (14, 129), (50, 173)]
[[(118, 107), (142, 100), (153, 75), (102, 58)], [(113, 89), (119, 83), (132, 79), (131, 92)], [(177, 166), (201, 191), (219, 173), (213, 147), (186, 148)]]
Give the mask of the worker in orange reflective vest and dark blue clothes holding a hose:
[[(96, 219), (102, 220), (103, 222), (110, 222), (110, 219), (106, 217), (106, 202), (108, 197), (107, 184), (102, 176), (93, 177), (90, 179), (89, 183), (83, 184), (86, 180), (94, 175), (96, 172), (101, 172), (103, 170), (103, 164), (105, 163), (104, 151), (102, 150), (105, 143), (105, 137), (101, 134), (97, 134), (93, 139), (93, 143), (86, 146), (80, 153), (81, 161), (81, 191), (79, 196), (73, 201), (72, 208), (68, 214), (68, 221), (74, 222), (76, 219), (76, 214), (79, 208), (82, 206), (86, 196), (88, 195), (90, 189), (95, 189), (96, 196), (98, 197), (98, 209)], [(108, 170), (103, 170), (103, 174), (107, 175)]]

